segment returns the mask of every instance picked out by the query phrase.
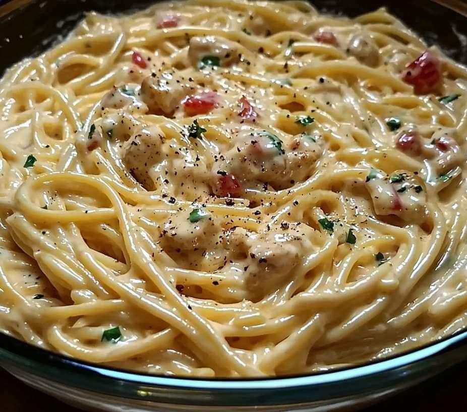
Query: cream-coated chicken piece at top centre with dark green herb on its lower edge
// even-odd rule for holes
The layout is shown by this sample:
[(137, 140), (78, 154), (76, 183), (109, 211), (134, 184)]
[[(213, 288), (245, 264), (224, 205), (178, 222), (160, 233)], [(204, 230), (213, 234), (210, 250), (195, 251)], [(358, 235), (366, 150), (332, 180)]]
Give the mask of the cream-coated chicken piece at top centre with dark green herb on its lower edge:
[(193, 67), (228, 67), (240, 61), (238, 45), (222, 37), (192, 37), (188, 48), (188, 58)]

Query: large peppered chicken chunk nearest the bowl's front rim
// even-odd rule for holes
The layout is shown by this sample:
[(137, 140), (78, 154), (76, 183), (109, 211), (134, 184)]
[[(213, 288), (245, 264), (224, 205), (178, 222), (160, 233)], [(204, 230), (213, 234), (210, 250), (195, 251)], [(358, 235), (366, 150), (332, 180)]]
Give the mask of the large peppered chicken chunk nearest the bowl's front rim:
[(258, 233), (240, 227), (226, 232), (225, 248), (233, 259), (244, 259), (248, 299), (258, 302), (293, 279), (294, 269), (314, 250), (314, 232), (287, 222)]

